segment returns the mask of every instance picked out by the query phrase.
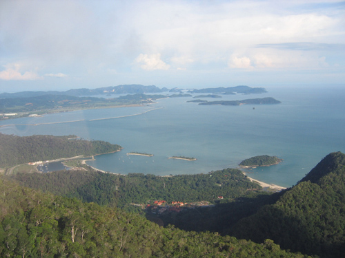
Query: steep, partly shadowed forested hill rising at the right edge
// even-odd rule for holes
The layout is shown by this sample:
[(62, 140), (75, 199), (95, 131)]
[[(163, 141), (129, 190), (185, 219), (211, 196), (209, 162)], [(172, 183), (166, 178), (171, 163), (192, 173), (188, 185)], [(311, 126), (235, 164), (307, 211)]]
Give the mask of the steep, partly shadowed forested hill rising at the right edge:
[(273, 239), (282, 248), (320, 257), (344, 257), (345, 154), (331, 153), (273, 205), (242, 219), (239, 238)]

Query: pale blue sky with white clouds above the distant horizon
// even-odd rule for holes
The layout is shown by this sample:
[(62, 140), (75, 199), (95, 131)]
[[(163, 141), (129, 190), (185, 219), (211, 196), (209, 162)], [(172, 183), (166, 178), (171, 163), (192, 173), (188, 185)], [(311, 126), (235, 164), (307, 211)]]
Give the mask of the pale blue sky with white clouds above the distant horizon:
[(345, 1), (0, 0), (0, 92), (344, 85)]

